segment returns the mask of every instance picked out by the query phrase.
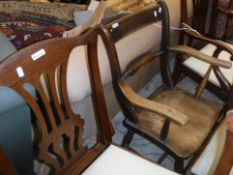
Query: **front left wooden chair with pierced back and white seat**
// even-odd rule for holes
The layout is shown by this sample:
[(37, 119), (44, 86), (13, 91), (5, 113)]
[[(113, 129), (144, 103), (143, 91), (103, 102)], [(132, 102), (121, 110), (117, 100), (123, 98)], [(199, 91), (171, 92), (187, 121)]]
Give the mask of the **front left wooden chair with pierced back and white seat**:
[[(163, 9), (164, 4), (158, 3), (145, 12), (152, 13), (159, 8)], [(112, 144), (113, 129), (107, 115), (98, 65), (97, 41), (100, 31), (94, 28), (80, 37), (38, 42), (12, 54), (0, 64), (0, 86), (17, 92), (31, 108), (34, 160), (39, 162), (40, 168), (47, 168), (43, 174), (153, 175), (156, 172), (175, 175)], [(74, 48), (83, 45), (87, 53), (87, 65), (83, 66), (89, 70), (98, 129), (96, 142), (92, 145), (83, 142), (84, 125), (87, 123), (83, 116), (73, 112), (67, 92), (69, 56)], [(36, 94), (29, 92), (26, 85), (32, 86)], [(6, 168), (5, 171), (1, 169), (1, 173), (18, 174), (17, 169), (7, 171), (12, 164), (2, 149), (0, 158), (5, 160), (0, 168)]]

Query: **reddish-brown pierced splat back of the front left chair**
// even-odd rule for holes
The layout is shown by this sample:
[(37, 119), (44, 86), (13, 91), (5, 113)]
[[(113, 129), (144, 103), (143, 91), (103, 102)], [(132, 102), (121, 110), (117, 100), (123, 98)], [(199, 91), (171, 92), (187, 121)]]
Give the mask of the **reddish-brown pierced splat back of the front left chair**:
[[(91, 148), (82, 143), (85, 123), (72, 111), (67, 93), (68, 58), (75, 47), (82, 45), (87, 48), (98, 126), (97, 143)], [(48, 165), (51, 174), (80, 174), (111, 142), (112, 128), (97, 60), (96, 29), (79, 38), (50, 39), (22, 49), (1, 63), (0, 75), (0, 86), (15, 90), (31, 107), (35, 159)], [(25, 84), (35, 88), (36, 97), (25, 89)]]

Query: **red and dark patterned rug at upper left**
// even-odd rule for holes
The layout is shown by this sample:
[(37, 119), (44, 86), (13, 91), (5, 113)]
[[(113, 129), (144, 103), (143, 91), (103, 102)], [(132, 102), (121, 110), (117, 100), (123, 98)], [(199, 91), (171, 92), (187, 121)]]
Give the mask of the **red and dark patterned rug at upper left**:
[(61, 37), (74, 24), (66, 20), (25, 12), (0, 12), (0, 31), (2, 31), (17, 49), (35, 42)]

